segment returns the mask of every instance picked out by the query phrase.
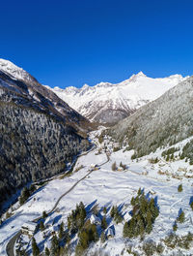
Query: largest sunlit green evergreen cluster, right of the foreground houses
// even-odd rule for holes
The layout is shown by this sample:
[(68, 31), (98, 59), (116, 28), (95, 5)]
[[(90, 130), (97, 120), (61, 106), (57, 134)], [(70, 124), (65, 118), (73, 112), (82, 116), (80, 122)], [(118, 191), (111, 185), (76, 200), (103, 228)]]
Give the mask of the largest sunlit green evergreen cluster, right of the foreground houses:
[(152, 232), (152, 224), (159, 214), (154, 199), (147, 199), (141, 189), (138, 195), (131, 199), (132, 218), (124, 224), (124, 238), (143, 237), (145, 233)]

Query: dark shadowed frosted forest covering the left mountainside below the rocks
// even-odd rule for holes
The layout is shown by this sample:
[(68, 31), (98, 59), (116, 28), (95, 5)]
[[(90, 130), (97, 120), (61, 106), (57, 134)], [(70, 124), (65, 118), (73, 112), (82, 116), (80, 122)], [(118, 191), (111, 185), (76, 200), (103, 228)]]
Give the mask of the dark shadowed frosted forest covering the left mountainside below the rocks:
[(14, 90), (0, 95), (0, 205), (27, 182), (64, 172), (88, 145), (64, 119), (33, 102), (18, 98)]

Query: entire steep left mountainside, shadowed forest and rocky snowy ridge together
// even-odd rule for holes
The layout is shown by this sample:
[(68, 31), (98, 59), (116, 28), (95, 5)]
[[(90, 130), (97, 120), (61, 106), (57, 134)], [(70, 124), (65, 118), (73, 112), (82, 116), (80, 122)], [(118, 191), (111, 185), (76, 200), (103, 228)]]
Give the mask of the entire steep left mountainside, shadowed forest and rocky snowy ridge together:
[(90, 125), (29, 74), (4, 71), (5, 66), (0, 66), (0, 205), (26, 182), (65, 171), (88, 147), (78, 133)]

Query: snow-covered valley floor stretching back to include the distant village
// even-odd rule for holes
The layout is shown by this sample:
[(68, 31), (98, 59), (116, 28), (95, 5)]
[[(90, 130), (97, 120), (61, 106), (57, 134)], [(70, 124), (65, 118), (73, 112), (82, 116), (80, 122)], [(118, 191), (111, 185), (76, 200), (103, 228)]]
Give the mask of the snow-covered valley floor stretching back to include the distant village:
[[(167, 246), (167, 236), (173, 232), (173, 226), (178, 218), (180, 210), (185, 214), (183, 223), (178, 223), (178, 230), (175, 232), (179, 237), (192, 232), (193, 211), (190, 203), (193, 196), (193, 168), (185, 160), (179, 159), (179, 151), (175, 152), (175, 159), (166, 161), (161, 153), (167, 148), (157, 149), (154, 153), (139, 159), (131, 160), (133, 150), (113, 151), (113, 147), (108, 139), (102, 144), (98, 144), (97, 136), (100, 131), (94, 132), (91, 139), (96, 142), (96, 148), (86, 155), (80, 156), (74, 167), (74, 172), (70, 176), (61, 176), (42, 185), (28, 200), (19, 207), (16, 203), (12, 211), (12, 216), (3, 221), (0, 229), (0, 255), (6, 255), (6, 245), (11, 238), (21, 229), (21, 226), (29, 221), (40, 217), (42, 211), (48, 212), (54, 207), (58, 198), (69, 190), (78, 180), (85, 176), (65, 197), (61, 199), (56, 210), (45, 219), (46, 224), (44, 232), (47, 236), (43, 237), (40, 230), (35, 234), (35, 239), (41, 251), (44, 247), (51, 246), (53, 227), (55, 232), (59, 224), (64, 222), (65, 230), (68, 230), (68, 216), (71, 209), (83, 202), (86, 210), (97, 208), (97, 216), (102, 218), (106, 215), (107, 227), (104, 232), (113, 227), (114, 234), (105, 241), (98, 240), (91, 243), (86, 255), (129, 255), (138, 252), (136, 255), (146, 255), (143, 250), (143, 244), (146, 241), (153, 240), (157, 244), (163, 245), (164, 251), (161, 255), (190, 255), (193, 253), (192, 246), (184, 248), (177, 244), (174, 248)], [(175, 146), (182, 148), (187, 143), (187, 139)], [(107, 147), (106, 147), (107, 146)], [(168, 146), (169, 148), (170, 146)], [(106, 149), (105, 149), (106, 148)], [(105, 152), (106, 151), (106, 152)], [(109, 161), (106, 153), (110, 154)], [(158, 161), (153, 163), (152, 159)], [(112, 171), (112, 164), (117, 164), (117, 171)], [(124, 169), (120, 168), (120, 163), (126, 165)], [(91, 169), (96, 170), (88, 173)], [(101, 166), (100, 166), (101, 165)], [(100, 167), (99, 167), (100, 166)], [(80, 168), (81, 167), (81, 168)], [(79, 171), (77, 171), (79, 169)], [(182, 191), (178, 192), (179, 184), (182, 184)], [(159, 208), (159, 215), (152, 225), (151, 234), (146, 234), (143, 240), (140, 238), (127, 239), (123, 237), (123, 229), (127, 212), (130, 212), (132, 206), (131, 198), (137, 196), (138, 189), (144, 189), (145, 195), (156, 199)], [(113, 206), (119, 208), (123, 217), (117, 224), (110, 216)], [(103, 208), (107, 212), (103, 212)], [(14, 208), (17, 208), (14, 210)], [(97, 226), (98, 234), (101, 233), (101, 227)], [(22, 242), (29, 242), (27, 236), (22, 235)], [(77, 235), (69, 241), (69, 255), (75, 255), (75, 246), (77, 244)], [(23, 248), (28, 253), (32, 253), (31, 243), (24, 244)], [(179, 246), (180, 245), (180, 246)], [(133, 255), (133, 254), (130, 255)]]

